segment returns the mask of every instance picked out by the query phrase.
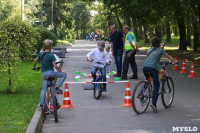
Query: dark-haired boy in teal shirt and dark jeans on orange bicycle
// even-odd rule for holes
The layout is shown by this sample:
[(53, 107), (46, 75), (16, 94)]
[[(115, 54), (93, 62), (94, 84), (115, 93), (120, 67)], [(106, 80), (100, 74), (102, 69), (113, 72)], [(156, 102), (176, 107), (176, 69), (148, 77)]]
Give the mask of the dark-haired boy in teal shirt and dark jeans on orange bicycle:
[[(153, 97), (152, 97), (152, 103), (150, 106), (152, 107), (154, 112), (157, 112), (156, 103), (158, 100), (158, 92), (160, 88), (160, 82), (158, 77), (158, 70), (159, 70), (159, 64), (160, 64), (160, 58), (162, 55), (165, 55), (168, 57), (172, 62), (174, 62), (174, 59), (165, 52), (162, 48), (160, 48), (160, 39), (158, 37), (152, 38), (152, 48), (147, 50), (147, 58), (143, 65), (143, 73), (151, 73), (151, 76), (153, 78)], [(146, 77), (148, 79), (148, 77)]]

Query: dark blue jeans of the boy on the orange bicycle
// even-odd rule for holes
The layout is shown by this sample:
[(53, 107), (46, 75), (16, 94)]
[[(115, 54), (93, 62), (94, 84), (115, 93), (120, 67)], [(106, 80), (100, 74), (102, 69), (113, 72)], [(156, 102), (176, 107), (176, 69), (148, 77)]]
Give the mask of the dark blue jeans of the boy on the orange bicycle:
[[(158, 100), (158, 92), (159, 92), (159, 88), (160, 88), (158, 70), (151, 68), (151, 67), (144, 67), (143, 73), (145, 73), (145, 72), (150, 72), (151, 76), (153, 78), (154, 91), (153, 91), (153, 97), (152, 97), (152, 104), (156, 105), (157, 100)], [(149, 77), (146, 77), (146, 78), (148, 79)]]

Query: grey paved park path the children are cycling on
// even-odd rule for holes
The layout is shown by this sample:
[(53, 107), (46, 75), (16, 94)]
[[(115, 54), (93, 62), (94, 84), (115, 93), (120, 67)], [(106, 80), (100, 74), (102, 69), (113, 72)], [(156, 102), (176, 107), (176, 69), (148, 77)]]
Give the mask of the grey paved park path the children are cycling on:
[[(92, 66), (86, 62), (86, 54), (95, 47), (95, 41), (85, 40), (76, 41), (72, 47), (68, 47), (62, 67), (68, 74), (66, 81), (73, 81), (77, 70), (90, 73), (89, 69), (83, 67)], [(136, 56), (139, 80), (131, 80), (131, 92), (135, 84), (144, 79), (142, 64), (145, 57), (145, 52), (140, 52)], [(114, 65), (111, 70), (115, 70)], [(171, 133), (174, 126), (196, 126), (200, 132), (200, 74), (196, 73), (199, 77), (197, 79), (187, 78), (188, 75), (181, 76), (179, 72), (171, 74), (175, 83), (175, 99), (172, 107), (165, 109), (159, 97), (159, 112), (153, 113), (149, 107), (142, 115), (137, 115), (132, 108), (120, 107), (123, 103), (125, 83), (109, 84), (108, 92), (103, 93), (99, 100), (93, 98), (93, 91), (83, 90), (81, 84), (69, 85), (75, 108), (60, 109), (58, 123), (54, 122), (53, 115), (47, 116), (42, 133)], [(91, 79), (85, 77), (82, 81)], [(63, 96), (59, 96), (60, 104), (62, 99)]]

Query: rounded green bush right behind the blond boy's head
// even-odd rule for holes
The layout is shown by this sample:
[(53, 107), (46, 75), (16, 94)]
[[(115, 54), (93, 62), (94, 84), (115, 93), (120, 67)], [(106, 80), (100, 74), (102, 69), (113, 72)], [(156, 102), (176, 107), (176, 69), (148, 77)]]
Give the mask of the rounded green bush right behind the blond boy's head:
[(43, 41), (46, 40), (46, 39), (52, 40), (53, 46), (56, 46), (58, 39), (53, 32), (49, 31), (46, 28), (38, 28), (37, 31), (38, 31), (39, 36), (40, 36), (39, 39), (38, 39), (38, 44), (35, 47), (37, 52), (40, 52), (40, 50), (43, 48)]

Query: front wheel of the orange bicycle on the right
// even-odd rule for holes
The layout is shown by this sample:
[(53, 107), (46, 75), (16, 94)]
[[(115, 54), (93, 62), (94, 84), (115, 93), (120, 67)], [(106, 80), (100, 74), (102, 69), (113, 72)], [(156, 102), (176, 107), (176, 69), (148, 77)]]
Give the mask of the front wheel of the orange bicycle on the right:
[(174, 82), (171, 77), (166, 77), (162, 83), (162, 103), (165, 108), (169, 108), (174, 100)]

